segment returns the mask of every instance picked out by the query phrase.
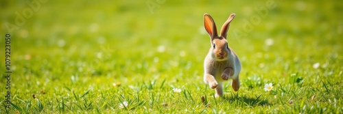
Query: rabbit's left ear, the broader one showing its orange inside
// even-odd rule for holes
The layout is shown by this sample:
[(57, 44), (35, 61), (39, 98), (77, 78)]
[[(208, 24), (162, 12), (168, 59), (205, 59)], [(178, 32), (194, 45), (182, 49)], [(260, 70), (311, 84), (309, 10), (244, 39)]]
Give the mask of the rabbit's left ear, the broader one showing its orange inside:
[(215, 23), (209, 14), (204, 14), (204, 26), (211, 39), (217, 36), (217, 27), (215, 27)]

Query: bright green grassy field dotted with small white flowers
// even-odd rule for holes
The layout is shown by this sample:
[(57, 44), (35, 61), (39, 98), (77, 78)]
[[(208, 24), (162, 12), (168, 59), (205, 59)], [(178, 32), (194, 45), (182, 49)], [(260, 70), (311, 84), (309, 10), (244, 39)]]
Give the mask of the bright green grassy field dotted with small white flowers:
[[(154, 14), (145, 2), (41, 3), (11, 32), (12, 105), (5, 109), (4, 25), (28, 5), (0, 1), (0, 113), (343, 112), (340, 1), (274, 1), (251, 31), (244, 20), (251, 23), (254, 8), (268, 1), (165, 1)], [(237, 15), (228, 42), (241, 59), (241, 88), (228, 81), (223, 98), (202, 81), (211, 46), (204, 13), (218, 29)], [(272, 91), (263, 90), (267, 83)]]

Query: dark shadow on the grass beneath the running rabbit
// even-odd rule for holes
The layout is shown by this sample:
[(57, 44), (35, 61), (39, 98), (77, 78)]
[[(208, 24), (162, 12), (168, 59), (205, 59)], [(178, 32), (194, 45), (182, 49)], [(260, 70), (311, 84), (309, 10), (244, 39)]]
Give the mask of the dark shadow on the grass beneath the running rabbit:
[(223, 100), (226, 100), (227, 102), (230, 103), (237, 103), (241, 104), (243, 106), (265, 106), (265, 105), (270, 105), (268, 100), (265, 100), (261, 98), (261, 95), (259, 96), (246, 96), (246, 95), (239, 95), (231, 93), (228, 96), (222, 97)]

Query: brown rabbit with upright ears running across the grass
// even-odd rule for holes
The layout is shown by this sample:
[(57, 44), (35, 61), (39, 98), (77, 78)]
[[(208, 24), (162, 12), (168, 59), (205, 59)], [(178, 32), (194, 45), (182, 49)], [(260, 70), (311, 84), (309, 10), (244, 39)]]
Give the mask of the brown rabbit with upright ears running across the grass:
[(239, 72), (241, 62), (235, 51), (228, 47), (226, 35), (230, 22), (235, 18), (231, 14), (217, 35), (217, 27), (209, 14), (204, 14), (204, 28), (211, 38), (211, 48), (204, 59), (204, 82), (212, 89), (215, 89), (215, 97), (223, 96), (223, 82), (232, 79), (233, 90), (239, 89)]

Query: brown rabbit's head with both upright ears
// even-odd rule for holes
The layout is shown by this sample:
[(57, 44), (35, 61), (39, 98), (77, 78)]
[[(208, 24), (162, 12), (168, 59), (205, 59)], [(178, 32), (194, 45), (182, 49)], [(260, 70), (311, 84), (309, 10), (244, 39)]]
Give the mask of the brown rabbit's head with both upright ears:
[(217, 27), (215, 26), (213, 18), (209, 14), (204, 14), (204, 27), (211, 37), (211, 56), (216, 61), (226, 61), (231, 53), (226, 36), (228, 27), (233, 18), (235, 18), (235, 14), (231, 14), (228, 17), (228, 20), (226, 20), (222, 26), (220, 35), (218, 36)]

